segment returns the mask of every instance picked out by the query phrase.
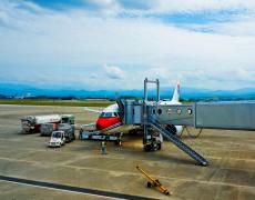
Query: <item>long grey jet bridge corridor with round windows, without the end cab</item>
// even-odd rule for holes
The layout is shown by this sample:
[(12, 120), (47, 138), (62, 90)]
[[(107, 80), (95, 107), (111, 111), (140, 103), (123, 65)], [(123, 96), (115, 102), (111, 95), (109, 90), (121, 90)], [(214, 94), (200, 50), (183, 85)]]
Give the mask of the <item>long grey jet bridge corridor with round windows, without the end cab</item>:
[(255, 101), (149, 106), (150, 118), (163, 123), (208, 129), (255, 130)]

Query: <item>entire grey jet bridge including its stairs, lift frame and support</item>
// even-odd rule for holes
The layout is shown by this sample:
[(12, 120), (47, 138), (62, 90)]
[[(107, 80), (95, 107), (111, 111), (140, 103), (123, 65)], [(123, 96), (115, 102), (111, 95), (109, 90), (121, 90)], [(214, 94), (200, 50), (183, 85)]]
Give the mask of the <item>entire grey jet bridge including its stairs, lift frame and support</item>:
[[(156, 84), (156, 100), (147, 100), (147, 83)], [(207, 166), (205, 158), (186, 146), (174, 132), (166, 130), (171, 126), (191, 126), (207, 129), (255, 130), (255, 101), (196, 102), (193, 104), (161, 106), (160, 81), (144, 80), (144, 99), (118, 100), (124, 124), (141, 124), (144, 129), (144, 148), (153, 147), (154, 129), (174, 143), (201, 166)]]

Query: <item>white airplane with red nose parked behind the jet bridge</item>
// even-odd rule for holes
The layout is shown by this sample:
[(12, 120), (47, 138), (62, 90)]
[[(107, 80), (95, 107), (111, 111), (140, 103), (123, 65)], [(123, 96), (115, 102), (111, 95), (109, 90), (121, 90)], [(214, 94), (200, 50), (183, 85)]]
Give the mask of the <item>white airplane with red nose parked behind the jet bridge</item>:
[[(161, 106), (174, 106), (174, 104), (182, 104), (180, 102), (180, 81), (175, 87), (173, 97), (169, 101), (161, 100), (157, 102)], [(141, 129), (140, 126), (133, 124), (122, 124), (122, 119), (120, 117), (120, 108), (118, 103), (111, 104), (106, 107), (104, 110), (99, 111), (90, 108), (84, 108), (86, 111), (98, 112), (100, 113), (99, 118), (95, 122), (96, 130), (100, 130), (104, 134), (113, 134), (113, 133), (129, 133), (134, 132), (137, 129)], [(181, 136), (183, 132), (183, 126), (166, 126), (166, 129), (174, 132), (176, 136)]]

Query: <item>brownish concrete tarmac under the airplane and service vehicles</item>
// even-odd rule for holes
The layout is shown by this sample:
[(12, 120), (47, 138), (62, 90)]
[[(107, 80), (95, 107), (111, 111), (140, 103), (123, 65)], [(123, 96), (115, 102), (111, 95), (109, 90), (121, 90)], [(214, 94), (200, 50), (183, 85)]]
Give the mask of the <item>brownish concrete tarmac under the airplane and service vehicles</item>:
[[(0, 176), (155, 199), (255, 199), (255, 131), (203, 130), (197, 139), (184, 131), (183, 141), (210, 161), (201, 167), (167, 141), (161, 151), (144, 152), (141, 136), (123, 137), (123, 147), (108, 142), (108, 154), (102, 156), (96, 141), (75, 140), (51, 149), (48, 137), (20, 133), (22, 116), (47, 113), (73, 113), (78, 127), (98, 117), (83, 108), (0, 107)], [(135, 166), (173, 194), (146, 188)], [(0, 199), (105, 198), (0, 180)]]

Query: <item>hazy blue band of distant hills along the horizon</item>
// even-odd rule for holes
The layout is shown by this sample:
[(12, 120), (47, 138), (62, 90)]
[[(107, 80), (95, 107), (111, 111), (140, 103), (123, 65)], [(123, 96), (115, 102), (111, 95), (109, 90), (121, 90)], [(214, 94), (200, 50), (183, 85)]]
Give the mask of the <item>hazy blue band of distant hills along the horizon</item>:
[[(161, 88), (161, 98), (170, 99), (173, 88)], [(116, 96), (143, 97), (143, 90), (75, 90), (75, 89), (42, 89), (26, 84), (0, 83), (0, 97), (22, 97), (22, 96), (45, 96), (45, 97), (75, 97), (75, 98), (112, 98)], [(155, 90), (149, 90), (149, 96), (155, 97)], [(181, 97), (184, 100), (236, 100), (255, 99), (255, 88), (244, 88), (238, 90), (207, 90), (194, 88), (181, 88)]]

